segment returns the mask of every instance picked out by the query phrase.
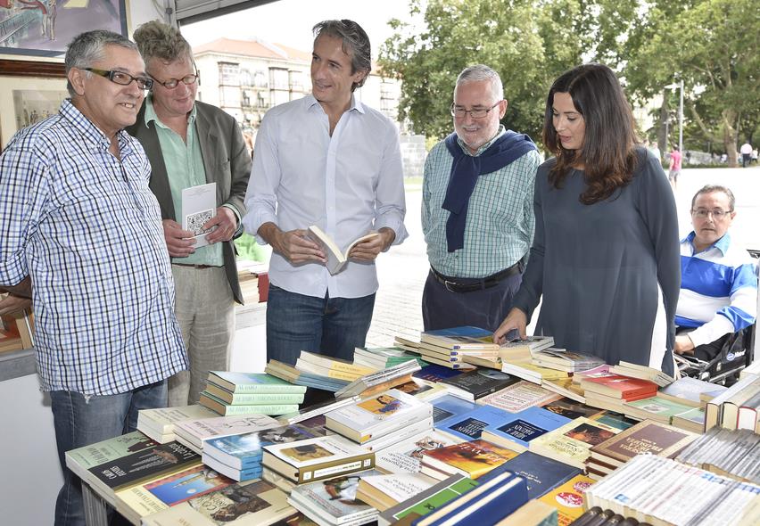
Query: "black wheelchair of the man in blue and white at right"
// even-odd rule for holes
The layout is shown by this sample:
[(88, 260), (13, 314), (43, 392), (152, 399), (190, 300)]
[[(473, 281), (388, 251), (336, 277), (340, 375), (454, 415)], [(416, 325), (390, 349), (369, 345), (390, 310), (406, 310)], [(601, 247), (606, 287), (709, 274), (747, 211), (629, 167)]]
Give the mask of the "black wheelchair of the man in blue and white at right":
[[(760, 258), (760, 250), (748, 250), (754, 259)], [(701, 360), (695, 356), (673, 354), (681, 376), (690, 376), (705, 382), (727, 387), (739, 380), (739, 372), (755, 360), (756, 323), (733, 333), (715, 358)]]

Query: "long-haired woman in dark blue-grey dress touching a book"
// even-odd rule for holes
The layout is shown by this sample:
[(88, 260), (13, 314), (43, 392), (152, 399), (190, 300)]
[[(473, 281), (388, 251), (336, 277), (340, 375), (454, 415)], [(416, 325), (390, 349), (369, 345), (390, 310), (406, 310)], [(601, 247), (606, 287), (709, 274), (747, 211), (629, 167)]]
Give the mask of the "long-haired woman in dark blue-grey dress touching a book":
[(513, 307), (496, 341), (537, 334), (555, 346), (673, 374), (681, 287), (678, 219), (657, 159), (637, 146), (631, 108), (615, 74), (584, 64), (549, 90), (538, 169), (536, 230)]

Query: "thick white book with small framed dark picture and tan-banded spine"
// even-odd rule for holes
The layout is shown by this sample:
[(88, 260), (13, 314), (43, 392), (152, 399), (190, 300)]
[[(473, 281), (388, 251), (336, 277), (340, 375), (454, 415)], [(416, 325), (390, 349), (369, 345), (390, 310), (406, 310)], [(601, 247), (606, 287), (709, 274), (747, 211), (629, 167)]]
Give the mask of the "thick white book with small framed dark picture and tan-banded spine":
[(340, 435), (264, 447), (263, 465), (291, 481), (320, 481), (375, 467), (375, 453)]

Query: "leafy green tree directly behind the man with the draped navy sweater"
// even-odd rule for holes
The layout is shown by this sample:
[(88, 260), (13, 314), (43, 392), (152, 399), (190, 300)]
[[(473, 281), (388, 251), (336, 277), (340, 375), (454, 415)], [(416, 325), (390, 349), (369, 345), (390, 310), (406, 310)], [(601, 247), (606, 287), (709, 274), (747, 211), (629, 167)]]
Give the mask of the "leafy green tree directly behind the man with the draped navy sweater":
[[(591, 12), (580, 0), (429, 0), (424, 32), (395, 35), (380, 51), (385, 71), (403, 80), (400, 120), (416, 133), (442, 138), (451, 132), (449, 113), (461, 70), (483, 63), (500, 74), (508, 128), (538, 142), (546, 94), (554, 78), (582, 62)], [(420, 12), (411, 0), (411, 12)]]

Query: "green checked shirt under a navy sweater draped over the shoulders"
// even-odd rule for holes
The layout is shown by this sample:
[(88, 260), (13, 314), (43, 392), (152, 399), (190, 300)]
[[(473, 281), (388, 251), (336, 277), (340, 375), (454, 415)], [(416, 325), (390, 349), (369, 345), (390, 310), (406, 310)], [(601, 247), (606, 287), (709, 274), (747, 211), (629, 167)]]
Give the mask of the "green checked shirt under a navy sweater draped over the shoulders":
[[(480, 155), (499, 136), (475, 152)], [(467, 146), (458, 144), (468, 155)], [(464, 248), (449, 252), (443, 210), (454, 158), (444, 142), (435, 144), (425, 160), (422, 184), (422, 231), (427, 243), (427, 259), (442, 275), (485, 277), (511, 267), (525, 256), (533, 242), (533, 184), (541, 164), (538, 152), (528, 152), (490, 174), (478, 177), (470, 196)]]

